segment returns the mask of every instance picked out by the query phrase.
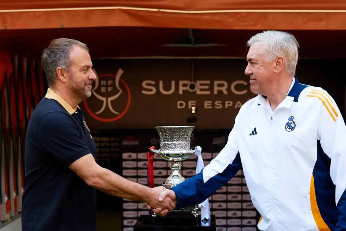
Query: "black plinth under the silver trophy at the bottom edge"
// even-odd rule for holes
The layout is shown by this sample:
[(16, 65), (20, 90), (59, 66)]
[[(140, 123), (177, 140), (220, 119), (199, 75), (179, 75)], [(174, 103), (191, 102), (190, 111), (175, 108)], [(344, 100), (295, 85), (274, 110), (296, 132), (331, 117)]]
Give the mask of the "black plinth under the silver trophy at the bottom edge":
[[(191, 216), (190, 216), (191, 215)], [(202, 224), (203, 222), (203, 224)], [(133, 228), (134, 231), (216, 231), (215, 215), (210, 215), (209, 221), (201, 221), (201, 216), (195, 217), (188, 213), (168, 213), (166, 216), (139, 216)]]

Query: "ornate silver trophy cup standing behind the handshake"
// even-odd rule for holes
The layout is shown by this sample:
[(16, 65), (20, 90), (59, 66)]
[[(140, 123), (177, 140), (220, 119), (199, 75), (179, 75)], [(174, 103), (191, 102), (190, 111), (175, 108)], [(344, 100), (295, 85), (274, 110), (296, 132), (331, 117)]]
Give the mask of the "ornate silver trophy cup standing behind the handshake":
[[(170, 189), (185, 181), (180, 174), (181, 162), (189, 159), (195, 153), (195, 150), (190, 149), (190, 138), (194, 126), (158, 126), (155, 128), (160, 135), (160, 149), (150, 151), (158, 154), (162, 159), (170, 161), (172, 174), (162, 184), (163, 187)], [(191, 212), (197, 217), (198, 207), (193, 205), (171, 212)]]

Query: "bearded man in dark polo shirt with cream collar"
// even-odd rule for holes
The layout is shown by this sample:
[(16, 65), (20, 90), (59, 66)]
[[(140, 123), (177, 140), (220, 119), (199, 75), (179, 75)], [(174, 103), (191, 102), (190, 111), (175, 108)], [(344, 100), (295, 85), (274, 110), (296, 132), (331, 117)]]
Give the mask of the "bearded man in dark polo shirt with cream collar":
[(59, 38), (43, 51), (48, 91), (30, 118), (25, 142), (22, 231), (96, 231), (96, 189), (166, 211), (163, 187), (148, 188), (100, 167), (97, 148), (78, 107), (97, 78), (88, 47)]

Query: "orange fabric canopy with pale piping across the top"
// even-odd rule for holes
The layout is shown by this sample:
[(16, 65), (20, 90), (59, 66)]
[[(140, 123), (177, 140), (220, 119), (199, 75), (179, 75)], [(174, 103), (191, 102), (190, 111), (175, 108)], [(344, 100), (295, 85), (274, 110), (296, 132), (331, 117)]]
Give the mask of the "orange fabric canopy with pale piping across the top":
[(0, 29), (346, 29), (343, 0), (3, 0), (0, 9)]

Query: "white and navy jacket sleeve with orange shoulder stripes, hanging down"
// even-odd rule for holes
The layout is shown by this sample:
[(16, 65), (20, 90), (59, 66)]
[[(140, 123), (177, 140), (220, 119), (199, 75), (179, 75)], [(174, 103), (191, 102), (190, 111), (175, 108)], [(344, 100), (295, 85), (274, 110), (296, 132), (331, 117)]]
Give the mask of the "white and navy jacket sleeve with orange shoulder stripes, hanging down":
[[(315, 180), (315, 195), (317, 198), (317, 187), (319, 187), (321, 192), (320, 199), (326, 201), (329, 199), (334, 200), (335, 198), (334, 203), (337, 207), (337, 213), (333, 214), (337, 219), (335, 231), (346, 231), (346, 126), (338, 106), (328, 92), (321, 89), (320, 91), (315, 91), (313, 95), (321, 102), (317, 141), (318, 157), (314, 169), (316, 178), (319, 177), (320, 181), (317, 182)], [(325, 164), (321, 164), (321, 162)], [(318, 166), (322, 165), (326, 166), (326, 171), (328, 171), (329, 167), (331, 182), (329, 180), (328, 186), (326, 185), (328, 180), (321, 180), (320, 176), (322, 176), (322, 173), (317, 171)], [(322, 196), (323, 192), (327, 192), (327, 190), (331, 191), (330, 197), (326, 193)], [(323, 215), (321, 210), (320, 212)], [(330, 213), (331, 211), (325, 212)], [(325, 222), (328, 223), (327, 220)]]

